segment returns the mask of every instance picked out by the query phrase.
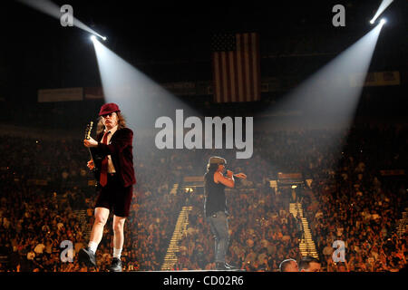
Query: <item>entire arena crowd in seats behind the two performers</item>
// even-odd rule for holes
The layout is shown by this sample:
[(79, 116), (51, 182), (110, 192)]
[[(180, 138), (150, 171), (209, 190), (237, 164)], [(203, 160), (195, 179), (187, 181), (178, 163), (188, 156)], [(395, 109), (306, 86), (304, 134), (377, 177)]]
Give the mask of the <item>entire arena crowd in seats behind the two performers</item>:
[[(170, 193), (184, 176), (202, 176), (211, 155), (225, 157), (229, 169), (248, 175), (228, 191), (231, 264), (248, 271), (277, 271), (282, 260), (299, 260), (298, 220), (288, 212), (290, 197), (268, 187), (268, 180), (282, 171), (302, 172), (314, 180), (301, 202), (325, 271), (337, 271), (330, 260), (333, 248), (327, 246), (339, 237), (345, 241), (348, 270), (401, 269), (406, 265), (406, 236), (397, 237), (394, 230), (406, 207), (406, 184), (387, 182), (379, 170), (405, 169), (404, 136), (401, 128), (271, 131), (254, 138), (250, 160), (236, 160), (235, 150), (157, 150), (141, 138), (135, 146), (138, 184), (125, 223), (124, 269), (160, 270), (186, 203), (193, 209), (174, 269), (213, 267), (202, 195)], [(95, 199), (81, 140), (8, 136), (0, 140), (0, 150), (7, 152), (0, 160), (0, 254), (8, 261), (0, 260), (1, 271), (107, 271), (111, 220), (98, 247), (97, 269), (78, 264), (75, 255), (88, 242), (84, 236), (92, 227)], [(77, 210), (88, 210), (87, 224)], [(63, 240), (73, 242), (73, 263), (60, 260)]]

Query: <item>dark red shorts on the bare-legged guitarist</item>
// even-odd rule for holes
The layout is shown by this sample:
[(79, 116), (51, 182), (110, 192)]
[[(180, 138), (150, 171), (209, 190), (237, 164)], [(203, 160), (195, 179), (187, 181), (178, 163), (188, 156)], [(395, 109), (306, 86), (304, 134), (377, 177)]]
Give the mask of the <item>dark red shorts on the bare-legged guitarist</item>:
[(99, 195), (96, 199), (95, 208), (108, 208), (112, 210), (116, 217), (129, 217), (133, 196), (132, 189), (132, 186), (124, 188), (117, 174), (111, 175), (108, 173), (106, 186), (98, 187)]

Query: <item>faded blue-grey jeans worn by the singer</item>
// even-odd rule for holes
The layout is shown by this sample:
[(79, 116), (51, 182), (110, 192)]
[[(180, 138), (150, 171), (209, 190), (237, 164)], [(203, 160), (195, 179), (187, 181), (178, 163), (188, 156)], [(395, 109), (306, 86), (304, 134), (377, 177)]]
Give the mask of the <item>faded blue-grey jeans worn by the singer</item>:
[(228, 250), (228, 219), (223, 211), (218, 211), (207, 218), (212, 235), (214, 235), (214, 256), (216, 263), (225, 263)]

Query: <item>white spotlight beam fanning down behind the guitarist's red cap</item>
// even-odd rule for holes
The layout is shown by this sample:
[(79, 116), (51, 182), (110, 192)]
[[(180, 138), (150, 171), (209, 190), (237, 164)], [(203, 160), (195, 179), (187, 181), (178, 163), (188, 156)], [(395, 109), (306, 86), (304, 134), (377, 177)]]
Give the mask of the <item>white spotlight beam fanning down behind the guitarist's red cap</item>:
[(113, 53), (92, 35), (105, 102), (118, 102), (128, 117), (128, 123), (137, 127), (154, 124), (160, 116), (184, 109), (186, 115), (197, 111), (168, 92), (146, 74)]

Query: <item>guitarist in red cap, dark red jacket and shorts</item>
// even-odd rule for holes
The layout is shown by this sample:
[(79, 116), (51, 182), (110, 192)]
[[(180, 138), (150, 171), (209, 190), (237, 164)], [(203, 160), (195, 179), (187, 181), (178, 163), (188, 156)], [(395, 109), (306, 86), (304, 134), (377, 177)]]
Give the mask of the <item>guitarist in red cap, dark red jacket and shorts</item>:
[[(133, 169), (133, 131), (126, 128), (121, 110), (115, 103), (102, 105), (96, 140), (83, 140), (83, 145), (92, 152), (88, 168), (97, 169), (95, 221), (88, 247), (79, 252), (80, 261), (96, 266), (95, 252), (102, 240), (103, 227), (113, 212), (113, 258), (112, 272), (121, 272), (121, 250), (123, 227), (131, 208), (132, 186), (136, 183)], [(98, 177), (99, 175), (99, 177)]]

